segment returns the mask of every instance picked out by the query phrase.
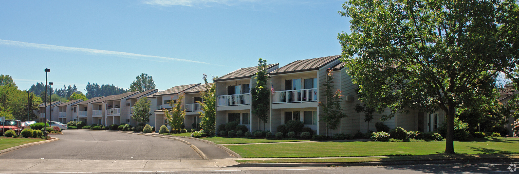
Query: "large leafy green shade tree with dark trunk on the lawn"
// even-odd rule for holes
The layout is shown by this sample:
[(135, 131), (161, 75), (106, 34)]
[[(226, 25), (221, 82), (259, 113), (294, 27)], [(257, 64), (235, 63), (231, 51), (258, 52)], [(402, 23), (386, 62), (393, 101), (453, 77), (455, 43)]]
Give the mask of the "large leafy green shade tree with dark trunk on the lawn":
[[(515, 0), (351, 0), (340, 15), (343, 59), (368, 107), (441, 109), (445, 153), (454, 152), (457, 108), (478, 107), (499, 74), (516, 79), (519, 8)], [(514, 80), (516, 81), (516, 80)]]

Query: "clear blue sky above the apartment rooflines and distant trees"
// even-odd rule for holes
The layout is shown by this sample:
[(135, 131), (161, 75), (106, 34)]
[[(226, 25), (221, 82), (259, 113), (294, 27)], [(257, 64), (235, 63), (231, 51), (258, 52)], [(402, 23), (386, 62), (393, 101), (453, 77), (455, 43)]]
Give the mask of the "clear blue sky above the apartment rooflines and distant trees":
[(257, 59), (280, 66), (340, 54), (344, 1), (0, 1), (0, 74), (21, 90), (45, 81), (127, 89), (202, 83)]

